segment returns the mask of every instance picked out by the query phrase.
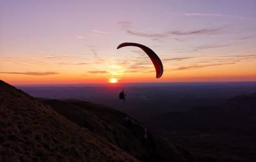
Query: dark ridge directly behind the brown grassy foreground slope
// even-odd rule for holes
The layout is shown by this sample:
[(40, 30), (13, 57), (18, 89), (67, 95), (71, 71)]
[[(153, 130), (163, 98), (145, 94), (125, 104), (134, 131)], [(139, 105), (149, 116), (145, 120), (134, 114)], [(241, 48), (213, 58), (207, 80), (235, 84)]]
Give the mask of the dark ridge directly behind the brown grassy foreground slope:
[(67, 119), (102, 136), (140, 161), (193, 161), (188, 151), (169, 145), (118, 110), (78, 100), (41, 100)]

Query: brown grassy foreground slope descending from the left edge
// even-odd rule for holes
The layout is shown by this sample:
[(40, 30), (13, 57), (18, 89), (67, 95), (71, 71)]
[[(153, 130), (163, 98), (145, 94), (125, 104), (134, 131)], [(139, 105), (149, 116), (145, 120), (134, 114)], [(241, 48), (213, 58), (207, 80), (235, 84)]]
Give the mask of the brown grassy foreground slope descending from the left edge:
[(0, 161), (137, 161), (0, 80)]

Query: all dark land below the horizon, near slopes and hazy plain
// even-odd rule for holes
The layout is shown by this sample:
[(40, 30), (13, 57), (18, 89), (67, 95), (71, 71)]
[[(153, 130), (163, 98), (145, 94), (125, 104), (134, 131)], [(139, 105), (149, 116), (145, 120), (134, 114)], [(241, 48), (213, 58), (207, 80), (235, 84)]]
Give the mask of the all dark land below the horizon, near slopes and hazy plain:
[(0, 161), (256, 161), (255, 83), (159, 86), (119, 102), (120, 87), (22, 87), (33, 98), (1, 82)]

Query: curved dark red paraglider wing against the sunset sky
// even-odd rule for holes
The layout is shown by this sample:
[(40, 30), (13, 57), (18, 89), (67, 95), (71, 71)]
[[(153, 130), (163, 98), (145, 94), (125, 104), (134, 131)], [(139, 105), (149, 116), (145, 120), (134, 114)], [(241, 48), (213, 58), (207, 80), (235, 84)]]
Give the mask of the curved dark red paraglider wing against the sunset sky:
[(164, 67), (163, 67), (162, 62), (159, 59), (159, 57), (157, 56), (157, 54), (155, 54), (155, 52), (152, 49), (150, 49), (149, 47), (146, 47), (145, 45), (131, 43), (131, 42), (122, 43), (122, 44), (117, 46), (117, 49), (120, 49), (120, 48), (126, 47), (126, 46), (135, 46), (135, 47), (139, 47), (140, 49), (144, 50), (144, 52), (147, 55), (149, 55), (150, 60), (154, 64), (155, 72), (156, 72), (156, 78), (159, 79), (162, 76), (162, 74), (164, 72)]

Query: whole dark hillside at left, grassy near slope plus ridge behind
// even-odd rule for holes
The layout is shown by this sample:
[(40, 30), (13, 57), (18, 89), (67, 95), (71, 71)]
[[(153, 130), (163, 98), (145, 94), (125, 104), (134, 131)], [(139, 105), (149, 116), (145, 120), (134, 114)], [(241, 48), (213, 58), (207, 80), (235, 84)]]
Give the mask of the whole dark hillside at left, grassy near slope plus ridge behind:
[(0, 161), (193, 158), (117, 110), (77, 100), (39, 100), (0, 80)]

